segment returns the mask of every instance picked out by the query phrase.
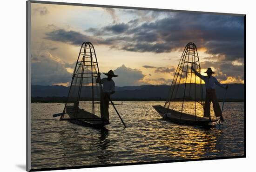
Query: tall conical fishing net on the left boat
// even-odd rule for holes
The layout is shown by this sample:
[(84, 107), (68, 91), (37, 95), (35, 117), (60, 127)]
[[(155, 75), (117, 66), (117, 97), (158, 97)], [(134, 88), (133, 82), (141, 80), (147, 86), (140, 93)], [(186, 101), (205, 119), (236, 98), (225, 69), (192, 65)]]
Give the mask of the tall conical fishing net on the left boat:
[(76, 61), (61, 120), (101, 120), (101, 86), (96, 83), (98, 73), (94, 46), (84, 42)]

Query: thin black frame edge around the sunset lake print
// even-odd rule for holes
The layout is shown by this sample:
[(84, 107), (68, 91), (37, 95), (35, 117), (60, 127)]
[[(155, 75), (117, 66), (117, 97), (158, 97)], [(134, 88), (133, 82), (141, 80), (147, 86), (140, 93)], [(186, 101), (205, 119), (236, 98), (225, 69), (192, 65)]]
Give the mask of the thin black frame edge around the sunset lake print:
[[(124, 164), (109, 164), (109, 165), (82, 165), (74, 167), (58, 167), (58, 168), (40, 168), (31, 169), (31, 3), (39, 4), (54, 4), (54, 5), (68, 5), (68, 6), (84, 6), (84, 7), (108, 7), (108, 8), (120, 8), (120, 9), (134, 9), (134, 10), (153, 10), (153, 11), (166, 11), (166, 12), (184, 12), (184, 13), (207, 13), (207, 14), (224, 14), (224, 15), (234, 15), (243, 16), (244, 18), (244, 155), (243, 156), (230, 156), (230, 157), (220, 157), (220, 158), (200, 158), (200, 159), (182, 159), (182, 160), (166, 160), (159, 162), (138, 162), (138, 163), (124, 163)], [(200, 160), (214, 160), (214, 159), (237, 159), (246, 158), (246, 14), (234, 14), (234, 13), (212, 13), (212, 12), (202, 12), (202, 11), (185, 11), (185, 10), (171, 10), (171, 9), (157, 9), (157, 8), (144, 8), (144, 7), (122, 7), (122, 6), (108, 6), (108, 5), (94, 5), (94, 4), (81, 4), (81, 3), (67, 3), (67, 2), (52, 2), (52, 1), (37, 1), (28, 0), (26, 3), (27, 7), (27, 46), (26, 46), (26, 56), (27, 56), (27, 155), (26, 155), (26, 167), (27, 171), (49, 171), (49, 170), (64, 170), (64, 169), (81, 169), (81, 168), (94, 168), (94, 167), (107, 167), (107, 166), (122, 166), (122, 165), (143, 165), (143, 164), (158, 164), (158, 163), (170, 163), (170, 162), (186, 162), (186, 161), (200, 161)]]

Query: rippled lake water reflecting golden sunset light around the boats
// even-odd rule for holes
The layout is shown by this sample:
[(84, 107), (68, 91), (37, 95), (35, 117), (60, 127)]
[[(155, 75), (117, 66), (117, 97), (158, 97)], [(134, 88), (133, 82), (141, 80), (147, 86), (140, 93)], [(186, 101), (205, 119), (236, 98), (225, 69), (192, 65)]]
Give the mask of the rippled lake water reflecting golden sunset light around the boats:
[(127, 128), (110, 105), (110, 124), (94, 129), (53, 118), (64, 104), (32, 103), (32, 169), (244, 155), (244, 103), (225, 103), (210, 129), (163, 120), (152, 107), (163, 104), (116, 105)]

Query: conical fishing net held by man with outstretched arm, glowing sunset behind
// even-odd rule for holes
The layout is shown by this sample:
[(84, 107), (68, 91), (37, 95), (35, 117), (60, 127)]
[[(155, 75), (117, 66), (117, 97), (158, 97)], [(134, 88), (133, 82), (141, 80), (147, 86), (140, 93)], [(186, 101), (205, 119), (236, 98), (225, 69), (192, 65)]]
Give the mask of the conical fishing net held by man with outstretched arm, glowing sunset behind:
[(189, 42), (184, 48), (164, 107), (180, 112), (180, 119), (182, 114), (186, 113), (195, 115), (196, 120), (196, 116), (202, 117), (203, 113), (203, 87), (202, 79), (195, 75), (191, 66), (201, 73), (197, 49), (193, 42)]

